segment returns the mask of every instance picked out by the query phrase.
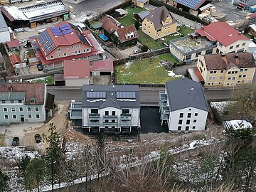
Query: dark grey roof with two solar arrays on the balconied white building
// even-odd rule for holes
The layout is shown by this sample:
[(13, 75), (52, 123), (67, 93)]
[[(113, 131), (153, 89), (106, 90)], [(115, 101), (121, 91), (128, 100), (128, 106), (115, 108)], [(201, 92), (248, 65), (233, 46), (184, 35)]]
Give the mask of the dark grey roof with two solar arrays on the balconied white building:
[(138, 85), (83, 85), (82, 107), (140, 107)]

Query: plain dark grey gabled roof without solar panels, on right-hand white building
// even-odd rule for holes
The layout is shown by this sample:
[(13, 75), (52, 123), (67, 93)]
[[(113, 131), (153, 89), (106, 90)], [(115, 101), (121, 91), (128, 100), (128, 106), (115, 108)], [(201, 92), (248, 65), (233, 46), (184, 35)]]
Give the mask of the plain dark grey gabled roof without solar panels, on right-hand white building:
[(194, 107), (208, 111), (206, 97), (200, 82), (179, 78), (166, 82), (170, 111)]

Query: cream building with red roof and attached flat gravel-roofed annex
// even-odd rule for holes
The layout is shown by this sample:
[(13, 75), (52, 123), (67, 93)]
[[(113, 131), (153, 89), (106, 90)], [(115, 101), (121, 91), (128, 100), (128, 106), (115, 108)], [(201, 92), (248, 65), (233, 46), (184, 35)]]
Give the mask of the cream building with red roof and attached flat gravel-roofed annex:
[(181, 62), (199, 55), (247, 52), (250, 39), (225, 22), (214, 22), (196, 29), (191, 36), (170, 41), (170, 52)]

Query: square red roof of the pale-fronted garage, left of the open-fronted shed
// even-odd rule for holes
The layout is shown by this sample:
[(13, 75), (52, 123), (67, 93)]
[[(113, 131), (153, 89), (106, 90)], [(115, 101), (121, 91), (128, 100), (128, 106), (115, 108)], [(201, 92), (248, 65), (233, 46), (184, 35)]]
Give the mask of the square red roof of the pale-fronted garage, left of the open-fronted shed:
[(64, 60), (64, 79), (90, 78), (89, 60)]

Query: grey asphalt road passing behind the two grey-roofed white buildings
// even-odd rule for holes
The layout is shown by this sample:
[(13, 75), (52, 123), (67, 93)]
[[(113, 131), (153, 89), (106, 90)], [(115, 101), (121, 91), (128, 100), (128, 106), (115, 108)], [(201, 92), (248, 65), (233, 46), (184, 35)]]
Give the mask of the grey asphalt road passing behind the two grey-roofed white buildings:
[[(142, 104), (158, 104), (159, 90), (164, 89), (141, 89), (140, 99)], [(61, 88), (61, 87), (47, 87), (47, 91), (50, 94), (55, 95), (55, 102), (67, 102), (75, 100), (78, 102), (82, 101), (82, 90), (72, 88)], [(218, 99), (230, 99), (233, 95), (233, 90), (205, 90), (206, 98), (208, 100)]]

